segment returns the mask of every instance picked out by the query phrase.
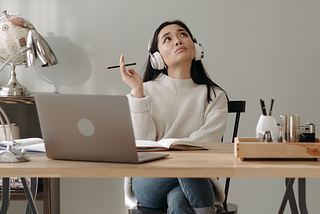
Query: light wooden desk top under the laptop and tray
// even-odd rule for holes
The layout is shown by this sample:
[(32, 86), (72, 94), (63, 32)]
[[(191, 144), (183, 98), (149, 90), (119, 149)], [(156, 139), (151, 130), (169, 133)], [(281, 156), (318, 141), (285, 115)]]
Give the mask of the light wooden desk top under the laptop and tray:
[(0, 163), (0, 177), (320, 177), (319, 161), (240, 161), (233, 144), (204, 144), (204, 151), (169, 151), (148, 163), (123, 164), (30, 157), (25, 163)]

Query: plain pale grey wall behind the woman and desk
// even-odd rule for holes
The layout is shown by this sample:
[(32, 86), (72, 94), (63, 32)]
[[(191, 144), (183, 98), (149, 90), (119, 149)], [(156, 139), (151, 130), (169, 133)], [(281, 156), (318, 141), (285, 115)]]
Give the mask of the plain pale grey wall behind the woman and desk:
[[(0, 10), (19, 12), (33, 23), (59, 59), (52, 68), (17, 68), (18, 80), (32, 92), (124, 95), (130, 88), (119, 70), (104, 68), (124, 54), (126, 62), (137, 62), (140, 72), (155, 28), (166, 20), (183, 20), (203, 44), (203, 62), (213, 80), (230, 99), (247, 101), (241, 137), (254, 136), (260, 98), (267, 107), (275, 99), (277, 121), (280, 114), (299, 114), (301, 124), (313, 122), (319, 133), (319, 8), (318, 0), (0, 1)], [(1, 73), (0, 84), (8, 75), (9, 69)], [(89, 186), (79, 190), (87, 181)], [(319, 209), (318, 183), (307, 179), (309, 213)], [(120, 178), (62, 179), (61, 186), (62, 213), (86, 213), (89, 208), (105, 213), (106, 206), (120, 210), (107, 213), (126, 213), (121, 202), (114, 202), (115, 197), (123, 199)], [(109, 187), (118, 188), (119, 196), (107, 196)], [(239, 205), (239, 213), (276, 213), (283, 191), (281, 178), (234, 178), (230, 201)]]

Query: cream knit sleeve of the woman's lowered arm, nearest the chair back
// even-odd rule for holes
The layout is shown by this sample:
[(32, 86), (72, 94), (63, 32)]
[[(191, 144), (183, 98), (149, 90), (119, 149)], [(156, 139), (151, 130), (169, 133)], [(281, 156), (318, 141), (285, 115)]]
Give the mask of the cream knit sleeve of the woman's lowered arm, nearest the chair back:
[(226, 130), (228, 101), (226, 94), (216, 89), (216, 96), (208, 104), (204, 114), (204, 124), (185, 138), (200, 143), (221, 142)]

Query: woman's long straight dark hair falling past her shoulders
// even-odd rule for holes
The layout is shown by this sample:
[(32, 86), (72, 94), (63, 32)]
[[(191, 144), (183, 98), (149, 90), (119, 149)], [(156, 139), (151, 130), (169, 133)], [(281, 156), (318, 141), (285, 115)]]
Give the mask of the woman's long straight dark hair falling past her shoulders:
[[(153, 35), (153, 39), (151, 42), (151, 50), (150, 53), (154, 53), (158, 50), (158, 35), (160, 33), (160, 31), (168, 26), (168, 25), (172, 25), (172, 24), (176, 24), (179, 25), (180, 27), (182, 27), (183, 29), (185, 29), (188, 34), (190, 35), (191, 39), (193, 40), (193, 42), (196, 42), (196, 40), (194, 39), (194, 37), (192, 36), (191, 31), (189, 30), (189, 28), (180, 20), (175, 20), (175, 21), (167, 21), (162, 23), (154, 32)], [(214, 83), (208, 73), (206, 72), (206, 70), (204, 69), (201, 60), (199, 61), (195, 61), (194, 59), (192, 60), (192, 65), (191, 65), (191, 78), (192, 80), (197, 83), (197, 84), (203, 84), (203, 85), (207, 85), (207, 90), (208, 90), (208, 94), (207, 94), (207, 100), (208, 102), (210, 102), (211, 99), (211, 90), (213, 90), (214, 96), (216, 96), (215, 93), (215, 88), (218, 88), (222, 91), (224, 91), (220, 86), (218, 86), (216, 83)], [(148, 82), (148, 81), (152, 81), (155, 80), (160, 74), (165, 74), (168, 75), (168, 71), (166, 68), (162, 69), (162, 70), (157, 70), (152, 68), (151, 63), (150, 63), (150, 55), (148, 57), (148, 62), (147, 62), (147, 66), (143, 75), (143, 82)], [(225, 92), (225, 91), (224, 91)]]

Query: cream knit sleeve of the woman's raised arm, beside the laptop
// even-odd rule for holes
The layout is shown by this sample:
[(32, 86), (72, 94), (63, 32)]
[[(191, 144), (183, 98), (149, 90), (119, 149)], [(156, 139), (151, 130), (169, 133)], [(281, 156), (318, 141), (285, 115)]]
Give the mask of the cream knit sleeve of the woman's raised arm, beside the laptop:
[(135, 139), (155, 140), (156, 127), (150, 113), (150, 97), (136, 98), (131, 94), (128, 94), (127, 97)]

